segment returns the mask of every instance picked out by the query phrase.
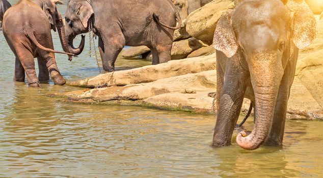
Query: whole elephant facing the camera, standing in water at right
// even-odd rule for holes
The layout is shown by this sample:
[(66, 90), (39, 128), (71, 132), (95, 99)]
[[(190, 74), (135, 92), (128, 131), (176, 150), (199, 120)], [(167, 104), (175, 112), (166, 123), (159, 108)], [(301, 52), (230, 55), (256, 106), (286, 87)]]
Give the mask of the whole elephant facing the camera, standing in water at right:
[(231, 144), (244, 98), (255, 106), (255, 126), (248, 136), (240, 132), (237, 144), (246, 150), (282, 145), (298, 52), (316, 35), (306, 4), (293, 11), (291, 17), (279, 0), (247, 0), (220, 18), (213, 41), (218, 78), (214, 146)]

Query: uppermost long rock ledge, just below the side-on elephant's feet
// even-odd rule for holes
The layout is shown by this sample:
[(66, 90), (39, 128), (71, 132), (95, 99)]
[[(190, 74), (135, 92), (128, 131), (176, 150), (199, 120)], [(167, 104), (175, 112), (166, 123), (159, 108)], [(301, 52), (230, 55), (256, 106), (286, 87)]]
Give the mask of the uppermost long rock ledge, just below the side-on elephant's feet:
[(97, 86), (124, 86), (213, 69), (216, 69), (216, 54), (194, 57), (190, 58), (190, 60), (175, 60), (158, 65), (101, 74), (84, 80), (68, 82), (67, 84), (88, 88)]

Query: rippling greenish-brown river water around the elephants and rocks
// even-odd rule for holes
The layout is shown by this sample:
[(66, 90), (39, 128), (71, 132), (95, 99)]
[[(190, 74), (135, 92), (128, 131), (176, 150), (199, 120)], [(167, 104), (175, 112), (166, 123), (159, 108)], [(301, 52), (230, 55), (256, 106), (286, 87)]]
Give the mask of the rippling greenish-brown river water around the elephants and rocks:
[[(88, 50), (73, 62), (56, 55), (67, 80), (98, 74)], [(77, 88), (13, 82), (14, 56), (2, 34), (0, 51), (0, 177), (323, 177), (323, 122), (287, 121), (282, 149), (244, 151), (234, 137), (216, 149), (212, 115), (62, 103), (45, 95)], [(148, 64), (119, 58), (116, 66)]]

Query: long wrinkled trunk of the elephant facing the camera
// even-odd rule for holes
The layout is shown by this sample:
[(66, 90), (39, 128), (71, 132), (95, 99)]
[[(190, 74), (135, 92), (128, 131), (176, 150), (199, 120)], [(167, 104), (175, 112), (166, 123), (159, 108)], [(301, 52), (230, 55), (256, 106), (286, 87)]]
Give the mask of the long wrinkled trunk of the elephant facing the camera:
[(236, 142), (245, 150), (255, 150), (265, 141), (270, 132), (283, 67), (274, 52), (259, 52), (250, 58), (248, 65), (255, 93), (256, 123), (248, 136), (246, 132), (240, 132)]

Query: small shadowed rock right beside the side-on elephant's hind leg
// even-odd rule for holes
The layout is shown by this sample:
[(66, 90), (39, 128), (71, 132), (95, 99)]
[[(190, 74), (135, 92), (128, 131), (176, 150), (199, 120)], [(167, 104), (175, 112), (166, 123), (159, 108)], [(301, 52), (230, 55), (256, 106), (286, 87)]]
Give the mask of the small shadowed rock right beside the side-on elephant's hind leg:
[(203, 47), (203, 43), (195, 38), (190, 38), (173, 43), (172, 60), (186, 58), (191, 52)]

